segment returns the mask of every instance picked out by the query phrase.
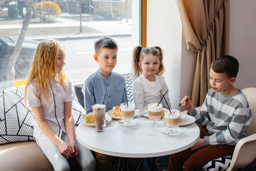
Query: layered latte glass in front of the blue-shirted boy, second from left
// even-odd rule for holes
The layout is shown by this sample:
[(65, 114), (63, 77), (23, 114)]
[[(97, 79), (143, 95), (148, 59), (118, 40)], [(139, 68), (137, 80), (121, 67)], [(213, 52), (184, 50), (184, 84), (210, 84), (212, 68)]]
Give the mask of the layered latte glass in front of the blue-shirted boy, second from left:
[(123, 118), (123, 124), (131, 125), (131, 122), (134, 118), (135, 113), (135, 104), (134, 103), (121, 103), (121, 115)]

